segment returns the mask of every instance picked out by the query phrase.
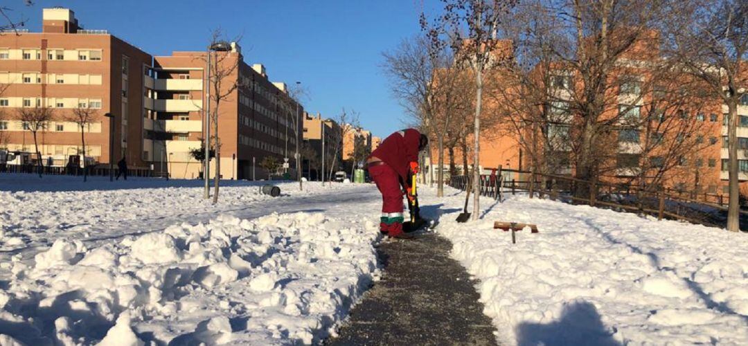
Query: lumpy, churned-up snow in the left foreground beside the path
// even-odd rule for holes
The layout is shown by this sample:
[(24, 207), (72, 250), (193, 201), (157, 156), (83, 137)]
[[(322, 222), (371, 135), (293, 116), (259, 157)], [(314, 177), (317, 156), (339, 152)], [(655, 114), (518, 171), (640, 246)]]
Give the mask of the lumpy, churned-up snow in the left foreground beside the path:
[(93, 249), (58, 239), (0, 289), (0, 344), (319, 342), (378, 276), (372, 222), (220, 215)]

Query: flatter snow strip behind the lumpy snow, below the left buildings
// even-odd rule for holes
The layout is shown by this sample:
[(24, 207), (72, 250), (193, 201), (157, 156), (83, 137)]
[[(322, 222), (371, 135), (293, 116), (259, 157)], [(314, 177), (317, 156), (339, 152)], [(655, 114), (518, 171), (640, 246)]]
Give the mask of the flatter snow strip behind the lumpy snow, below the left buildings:
[[(275, 183), (275, 182), (274, 182)], [(239, 213), (251, 218), (267, 214), (260, 203), (280, 206), (287, 198), (260, 194), (267, 182), (223, 181), (217, 204), (203, 198), (200, 180), (129, 179), (109, 182), (91, 177), (0, 174), (0, 251), (48, 247), (58, 238), (111, 238), (120, 233), (157, 231), (188, 220), (207, 222), (216, 213)], [(303, 199), (338, 190), (307, 182), (275, 183), (283, 197)], [(272, 202), (271, 202), (272, 200)], [(307, 203), (308, 204), (308, 203)], [(264, 211), (264, 212), (263, 212)], [(249, 215), (247, 215), (249, 214)]]

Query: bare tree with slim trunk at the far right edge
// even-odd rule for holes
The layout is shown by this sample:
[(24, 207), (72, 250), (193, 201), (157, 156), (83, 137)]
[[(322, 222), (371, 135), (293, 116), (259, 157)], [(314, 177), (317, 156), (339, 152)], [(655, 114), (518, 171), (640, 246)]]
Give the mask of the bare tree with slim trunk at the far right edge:
[(738, 105), (748, 88), (748, 3), (741, 0), (690, 0), (675, 4), (683, 13), (667, 22), (669, 53), (684, 70), (727, 105), (729, 206), (727, 229), (740, 230)]

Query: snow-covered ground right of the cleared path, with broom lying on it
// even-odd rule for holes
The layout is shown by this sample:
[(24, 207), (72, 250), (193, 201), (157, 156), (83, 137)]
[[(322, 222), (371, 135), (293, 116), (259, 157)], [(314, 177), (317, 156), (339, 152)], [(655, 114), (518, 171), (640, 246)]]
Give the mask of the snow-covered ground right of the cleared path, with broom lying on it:
[[(479, 279), (500, 343), (748, 345), (747, 235), (527, 197), (478, 222), (455, 216), (438, 232)], [(518, 232), (512, 244), (495, 220), (540, 233)]]

